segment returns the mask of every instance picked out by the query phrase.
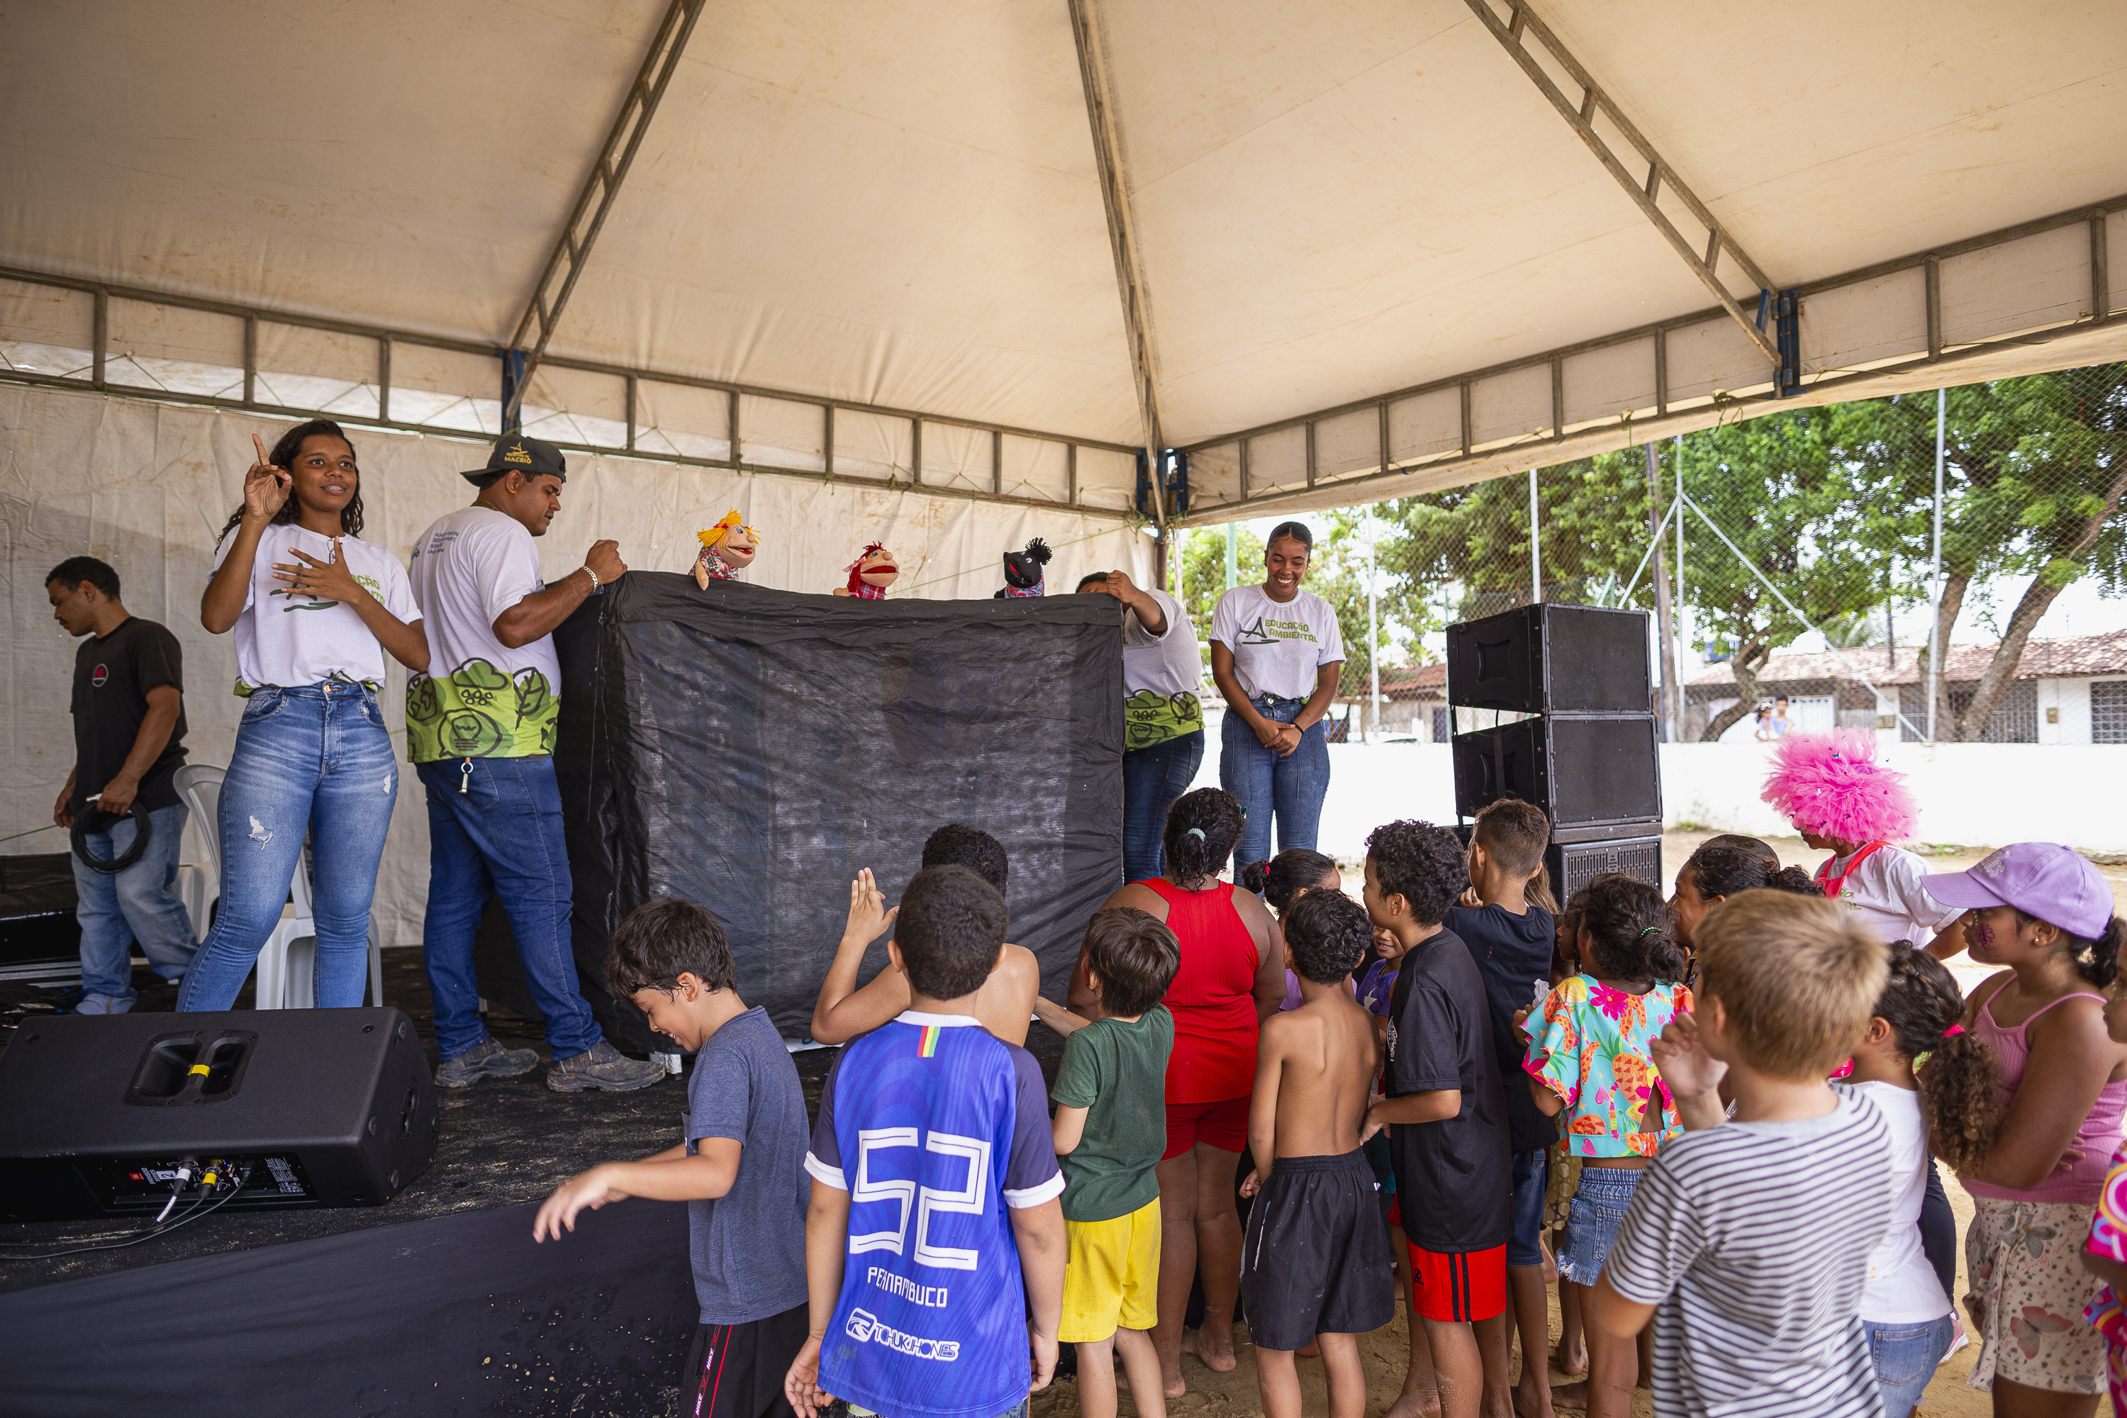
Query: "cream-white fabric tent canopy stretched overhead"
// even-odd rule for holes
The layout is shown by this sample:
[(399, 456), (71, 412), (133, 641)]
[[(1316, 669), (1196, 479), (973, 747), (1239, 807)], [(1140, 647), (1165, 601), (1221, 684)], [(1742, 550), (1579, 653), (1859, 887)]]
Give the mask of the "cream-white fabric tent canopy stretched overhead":
[(2127, 347), (2121, 6), (28, 0), (0, 23), (17, 376), (491, 427), (493, 355), (689, 23), (525, 393), (576, 446), (1125, 510), (1155, 415), (1195, 453), (1191, 521), (1395, 495), (1765, 391), (1704, 251), (1746, 315), (1751, 270), (1802, 291), (1802, 398)]

